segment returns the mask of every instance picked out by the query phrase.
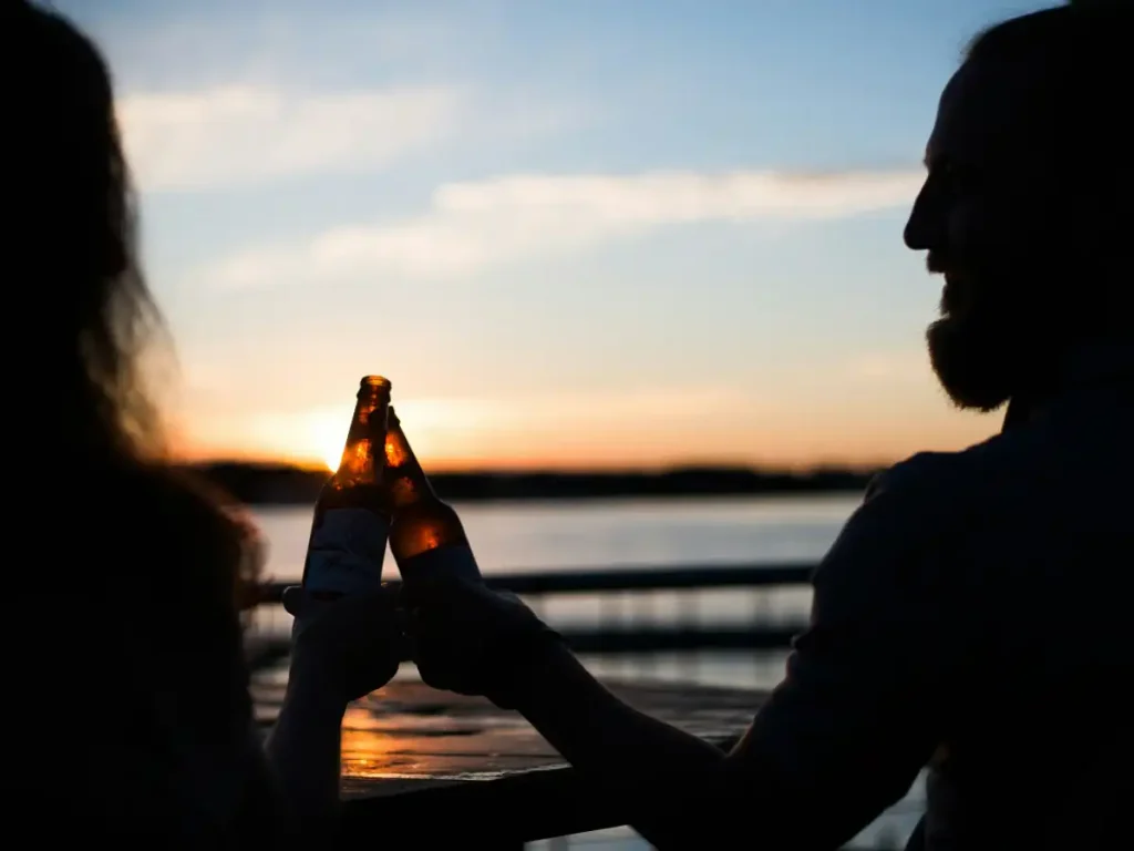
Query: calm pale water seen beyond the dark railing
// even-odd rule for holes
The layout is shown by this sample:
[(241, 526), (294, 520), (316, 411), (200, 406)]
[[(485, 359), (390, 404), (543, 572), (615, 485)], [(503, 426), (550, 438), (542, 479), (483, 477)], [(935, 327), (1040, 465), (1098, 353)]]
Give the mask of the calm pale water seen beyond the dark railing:
[[(833, 542), (861, 497), (796, 496), (719, 499), (480, 503), (457, 505), (484, 573), (572, 568), (655, 567), (685, 563), (816, 562)], [(268, 538), (266, 573), (298, 580), (303, 570), (311, 509), (259, 508)], [(387, 555), (387, 575), (396, 571)], [(696, 592), (704, 623), (799, 620), (806, 589)], [(628, 617), (671, 620), (677, 597), (668, 592), (599, 599), (541, 600), (540, 614), (556, 625)], [(272, 627), (287, 615), (269, 615)], [(784, 672), (782, 654), (696, 654), (648, 658), (586, 659), (596, 674), (642, 676), (714, 685), (770, 688)], [(412, 673), (411, 673), (412, 675)], [(883, 816), (861, 839), (889, 848), (904, 839), (921, 809), (921, 789)], [(547, 843), (538, 843), (547, 846)], [(572, 845), (619, 851), (646, 848), (625, 831), (573, 837)]]

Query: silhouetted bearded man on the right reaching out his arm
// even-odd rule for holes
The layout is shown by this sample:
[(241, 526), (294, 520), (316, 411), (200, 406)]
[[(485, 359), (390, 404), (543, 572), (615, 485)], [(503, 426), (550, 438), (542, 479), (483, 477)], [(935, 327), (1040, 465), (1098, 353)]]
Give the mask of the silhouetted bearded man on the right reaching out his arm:
[[(909, 849), (1118, 848), (1134, 640), (1134, 9), (982, 34), (906, 226), (933, 369), (996, 437), (879, 475), (787, 675), (728, 753), (607, 692), (522, 604), (420, 595), (426, 682), (523, 713), (658, 848), (836, 849), (928, 765)], [(1122, 795), (1122, 797), (1119, 797)]]

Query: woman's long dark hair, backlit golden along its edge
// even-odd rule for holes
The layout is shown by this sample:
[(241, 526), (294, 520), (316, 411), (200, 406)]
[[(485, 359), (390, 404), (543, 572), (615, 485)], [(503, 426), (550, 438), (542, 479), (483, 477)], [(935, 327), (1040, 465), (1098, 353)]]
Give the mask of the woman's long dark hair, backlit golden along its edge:
[(14, 372), (36, 412), (24, 439), (66, 466), (51, 483), (83, 495), (88, 525), (134, 526), (115, 545), (124, 570), (149, 541), (160, 547), (155, 591), (172, 593), (196, 571), (245, 599), (256, 559), (237, 506), (167, 461), (146, 378), (171, 364), (172, 347), (142, 273), (107, 64), (70, 23), (24, 0), (0, 0), (0, 53), (11, 64), (0, 73), (11, 151), (0, 234), (9, 297), (23, 307), (10, 317), (28, 326), (10, 339), (24, 347), (11, 359), (25, 355)]

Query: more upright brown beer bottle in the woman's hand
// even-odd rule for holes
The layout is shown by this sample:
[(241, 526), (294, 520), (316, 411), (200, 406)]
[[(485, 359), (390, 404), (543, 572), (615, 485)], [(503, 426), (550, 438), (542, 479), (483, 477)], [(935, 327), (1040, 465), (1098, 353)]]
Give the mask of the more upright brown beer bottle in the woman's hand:
[(315, 502), (303, 567), (304, 588), (316, 599), (335, 599), (381, 587), (390, 530), (382, 489), (390, 382), (366, 376), (358, 387), (339, 469)]

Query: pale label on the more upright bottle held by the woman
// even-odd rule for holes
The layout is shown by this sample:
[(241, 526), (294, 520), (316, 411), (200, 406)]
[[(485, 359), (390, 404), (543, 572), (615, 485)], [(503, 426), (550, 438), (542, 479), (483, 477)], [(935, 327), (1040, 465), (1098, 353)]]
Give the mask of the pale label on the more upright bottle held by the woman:
[(331, 508), (311, 534), (306, 587), (357, 593), (380, 588), (390, 524), (365, 508)]

